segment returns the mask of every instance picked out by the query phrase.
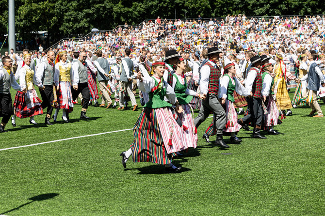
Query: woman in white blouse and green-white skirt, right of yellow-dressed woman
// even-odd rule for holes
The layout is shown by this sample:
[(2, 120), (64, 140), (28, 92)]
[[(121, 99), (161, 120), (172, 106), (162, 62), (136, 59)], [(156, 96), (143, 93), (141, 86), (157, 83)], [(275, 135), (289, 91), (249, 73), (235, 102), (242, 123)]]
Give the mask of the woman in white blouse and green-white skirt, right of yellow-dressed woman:
[[(307, 65), (307, 54), (301, 54), (299, 56), (299, 60), (298, 60), (298, 78), (301, 79), (302, 77), (304, 77), (307, 74), (307, 69), (308, 69), (308, 65)], [(298, 83), (296, 91), (293, 95), (293, 99), (292, 99), (292, 106), (295, 108), (297, 105), (298, 106), (305, 106), (306, 105), (306, 101), (303, 101), (303, 95), (307, 94), (307, 81), (301, 81)]]

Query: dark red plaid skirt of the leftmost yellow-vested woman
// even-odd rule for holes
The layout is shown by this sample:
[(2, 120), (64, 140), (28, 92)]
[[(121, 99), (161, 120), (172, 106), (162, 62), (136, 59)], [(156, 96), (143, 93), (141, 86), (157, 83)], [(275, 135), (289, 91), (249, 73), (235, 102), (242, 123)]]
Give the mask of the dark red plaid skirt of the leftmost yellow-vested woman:
[[(40, 102), (41, 101), (38, 101), (38, 102), (36, 102), (36, 104), (39, 104)], [(23, 93), (21, 91), (18, 91), (16, 93), (15, 101), (14, 101), (14, 108), (15, 108), (16, 116), (21, 119), (43, 114), (43, 109), (40, 104), (35, 105), (31, 108), (27, 108), (26, 93)]]

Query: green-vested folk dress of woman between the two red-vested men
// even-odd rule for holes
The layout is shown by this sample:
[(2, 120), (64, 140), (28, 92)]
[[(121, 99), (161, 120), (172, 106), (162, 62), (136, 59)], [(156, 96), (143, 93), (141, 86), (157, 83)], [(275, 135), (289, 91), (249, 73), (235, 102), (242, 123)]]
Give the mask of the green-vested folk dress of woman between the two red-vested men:
[[(236, 91), (238, 95), (248, 96), (250, 95), (250, 91), (246, 90), (236, 77), (230, 77), (228, 74), (221, 77), (219, 83), (218, 98), (226, 99), (224, 107), (226, 111), (226, 128), (224, 129), (224, 132), (238, 132), (242, 126), (237, 123), (237, 112), (234, 106), (234, 92)], [(209, 136), (216, 134), (213, 120), (205, 133)]]

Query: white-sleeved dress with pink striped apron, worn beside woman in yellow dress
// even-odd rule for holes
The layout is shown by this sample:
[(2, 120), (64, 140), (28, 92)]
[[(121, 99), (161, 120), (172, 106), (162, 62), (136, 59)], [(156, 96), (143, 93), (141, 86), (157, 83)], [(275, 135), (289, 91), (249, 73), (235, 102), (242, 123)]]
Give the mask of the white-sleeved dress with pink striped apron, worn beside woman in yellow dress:
[(274, 92), (272, 86), (274, 85), (273, 77), (266, 71), (262, 74), (262, 96), (266, 96), (265, 106), (267, 112), (264, 113), (263, 126), (264, 129), (277, 125), (279, 118), (279, 110), (277, 108), (276, 100), (274, 99)]

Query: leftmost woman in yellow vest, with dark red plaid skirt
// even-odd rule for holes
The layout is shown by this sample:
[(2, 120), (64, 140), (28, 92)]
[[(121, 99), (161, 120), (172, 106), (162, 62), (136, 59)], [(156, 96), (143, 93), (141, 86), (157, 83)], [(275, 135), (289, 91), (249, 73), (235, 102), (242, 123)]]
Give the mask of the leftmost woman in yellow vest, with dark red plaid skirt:
[(19, 84), (22, 91), (16, 93), (14, 108), (18, 118), (30, 117), (29, 122), (31, 124), (37, 124), (34, 121), (34, 116), (43, 114), (43, 109), (41, 105), (42, 101), (37, 96), (33, 84), (38, 86), (40, 90), (44, 90), (44, 86), (42, 81), (34, 76), (34, 71), (30, 67), (32, 62), (31, 57), (31, 54), (24, 55), (24, 64), (19, 70)]

